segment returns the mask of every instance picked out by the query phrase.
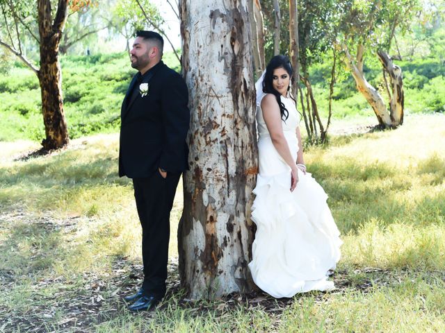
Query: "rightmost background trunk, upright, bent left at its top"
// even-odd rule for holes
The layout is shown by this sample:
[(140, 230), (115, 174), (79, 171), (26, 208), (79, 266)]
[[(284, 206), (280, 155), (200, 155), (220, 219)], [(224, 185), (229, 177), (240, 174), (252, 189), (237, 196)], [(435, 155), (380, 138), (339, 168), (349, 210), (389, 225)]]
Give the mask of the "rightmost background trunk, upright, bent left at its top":
[(391, 126), (396, 127), (403, 124), (403, 107), (405, 96), (403, 94), (403, 78), (402, 69), (394, 65), (391, 57), (383, 51), (378, 51), (378, 58), (382, 62), (383, 69), (389, 74), (391, 80), (391, 101), (389, 102), (389, 110), (391, 117)]

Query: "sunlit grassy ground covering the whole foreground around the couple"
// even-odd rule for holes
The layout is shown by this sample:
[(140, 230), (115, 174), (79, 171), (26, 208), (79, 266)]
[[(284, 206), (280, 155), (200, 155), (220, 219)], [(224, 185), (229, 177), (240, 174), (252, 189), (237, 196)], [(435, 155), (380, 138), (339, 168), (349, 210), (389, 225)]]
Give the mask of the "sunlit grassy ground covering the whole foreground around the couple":
[(26, 161), (17, 157), (37, 143), (1, 142), (0, 327), (444, 332), (443, 137), (442, 114), (409, 115), (397, 130), (331, 137), (329, 146), (305, 152), (344, 241), (331, 293), (184, 300), (175, 264), (179, 187), (168, 296), (154, 313), (140, 315), (122, 302), (140, 283), (140, 225), (131, 182), (117, 176), (118, 136), (75, 139), (63, 151)]

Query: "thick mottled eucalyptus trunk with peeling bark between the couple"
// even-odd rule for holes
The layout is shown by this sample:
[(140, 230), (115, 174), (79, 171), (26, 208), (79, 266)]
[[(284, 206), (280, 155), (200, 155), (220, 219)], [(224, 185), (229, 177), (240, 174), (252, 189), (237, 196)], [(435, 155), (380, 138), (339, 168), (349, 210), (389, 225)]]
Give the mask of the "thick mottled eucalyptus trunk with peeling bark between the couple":
[(179, 273), (190, 298), (252, 288), (257, 174), (248, 1), (182, 0), (182, 68), (191, 110)]

